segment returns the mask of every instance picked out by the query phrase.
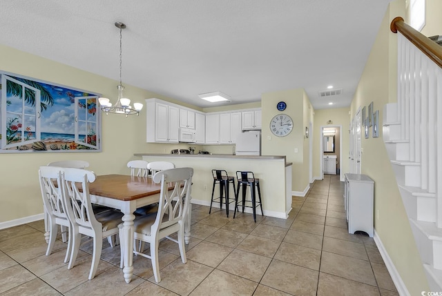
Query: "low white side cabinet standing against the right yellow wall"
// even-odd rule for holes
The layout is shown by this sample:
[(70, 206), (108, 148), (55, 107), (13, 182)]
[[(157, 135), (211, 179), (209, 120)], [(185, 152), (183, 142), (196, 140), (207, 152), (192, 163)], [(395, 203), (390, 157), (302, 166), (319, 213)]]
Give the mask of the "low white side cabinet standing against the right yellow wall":
[(359, 174), (345, 174), (345, 213), (348, 233), (364, 231), (373, 237), (374, 181)]

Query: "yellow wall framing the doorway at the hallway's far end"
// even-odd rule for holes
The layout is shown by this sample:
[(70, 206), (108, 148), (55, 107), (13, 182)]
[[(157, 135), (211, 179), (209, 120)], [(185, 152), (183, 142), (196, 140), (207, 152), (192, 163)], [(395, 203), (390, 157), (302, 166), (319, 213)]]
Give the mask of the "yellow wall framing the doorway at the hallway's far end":
[[(320, 148), (323, 143), (323, 139), (321, 139), (320, 137), (320, 129), (322, 127), (342, 127), (340, 133), (340, 137), (342, 138), (343, 143), (343, 145), (340, 146), (340, 150), (342, 152), (342, 159), (339, 160), (340, 175), (343, 176), (343, 174), (349, 172), (349, 110), (350, 108), (315, 110), (313, 136), (313, 177), (315, 179), (320, 179), (321, 177), (320, 161), (323, 161), (323, 155), (321, 154)], [(332, 121), (333, 124), (327, 124), (328, 121)]]

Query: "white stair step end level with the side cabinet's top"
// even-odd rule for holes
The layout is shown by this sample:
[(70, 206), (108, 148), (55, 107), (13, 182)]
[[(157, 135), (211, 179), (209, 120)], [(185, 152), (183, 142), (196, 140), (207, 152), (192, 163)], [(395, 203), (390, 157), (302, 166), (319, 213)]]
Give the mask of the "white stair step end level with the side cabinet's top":
[(421, 187), (421, 164), (412, 161), (391, 160), (398, 185)]

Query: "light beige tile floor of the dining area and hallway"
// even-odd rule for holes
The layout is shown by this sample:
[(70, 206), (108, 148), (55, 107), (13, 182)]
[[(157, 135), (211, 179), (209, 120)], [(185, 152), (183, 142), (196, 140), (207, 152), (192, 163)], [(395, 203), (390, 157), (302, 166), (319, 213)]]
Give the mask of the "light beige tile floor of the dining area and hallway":
[(163, 241), (159, 284), (141, 256), (126, 284), (119, 248), (107, 243), (95, 279), (88, 280), (91, 243), (68, 270), (61, 240), (44, 255), (43, 221), (0, 230), (0, 295), (398, 295), (374, 240), (347, 233), (337, 176), (315, 181), (292, 206), (289, 219), (258, 215), (254, 223), (250, 214), (233, 219), (194, 205), (188, 262)]

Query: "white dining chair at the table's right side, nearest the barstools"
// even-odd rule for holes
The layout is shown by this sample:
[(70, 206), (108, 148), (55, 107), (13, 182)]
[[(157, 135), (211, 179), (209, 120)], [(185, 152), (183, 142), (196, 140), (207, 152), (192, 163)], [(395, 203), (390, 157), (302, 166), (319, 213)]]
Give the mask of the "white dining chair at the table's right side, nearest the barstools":
[[(174, 241), (180, 248), (182, 263), (186, 263), (186, 250), (184, 248), (184, 221), (188, 213), (191, 185), (192, 185), (193, 168), (173, 168), (170, 170), (162, 170), (153, 176), (155, 183), (161, 182), (160, 203), (156, 215), (144, 215), (135, 217), (134, 228), (135, 239), (145, 241), (151, 244), (151, 255), (147, 255), (137, 250), (133, 253), (149, 258), (152, 261), (153, 275), (155, 282), (161, 282), (160, 266), (158, 264), (158, 246), (160, 239), (166, 238)], [(173, 190), (169, 190), (171, 182), (174, 185)], [(125, 244), (123, 238), (123, 224), (119, 224), (119, 240), (121, 244)], [(173, 233), (177, 233), (177, 239), (170, 237)], [(120, 267), (123, 267), (123, 250)]]

